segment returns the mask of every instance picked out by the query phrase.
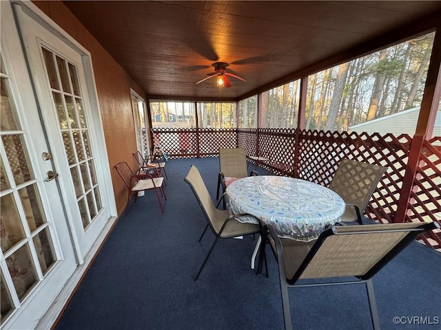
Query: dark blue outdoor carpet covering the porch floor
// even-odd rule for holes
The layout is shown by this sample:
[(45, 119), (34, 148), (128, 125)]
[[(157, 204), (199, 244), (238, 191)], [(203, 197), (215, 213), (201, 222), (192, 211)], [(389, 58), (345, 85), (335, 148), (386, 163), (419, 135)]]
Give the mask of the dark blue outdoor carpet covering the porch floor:
[[(192, 164), (216, 197), (217, 157), (167, 162), (165, 213), (152, 191), (131, 200), (56, 330), (283, 329), (274, 256), (267, 251), (269, 278), (256, 276), (252, 237), (220, 239), (193, 281), (214, 234), (198, 242), (206, 221), (183, 181)], [(382, 329), (441, 329), (440, 275), (441, 254), (418, 242), (380, 270), (373, 285)], [(289, 298), (294, 329), (372, 329), (364, 285), (292, 288)]]

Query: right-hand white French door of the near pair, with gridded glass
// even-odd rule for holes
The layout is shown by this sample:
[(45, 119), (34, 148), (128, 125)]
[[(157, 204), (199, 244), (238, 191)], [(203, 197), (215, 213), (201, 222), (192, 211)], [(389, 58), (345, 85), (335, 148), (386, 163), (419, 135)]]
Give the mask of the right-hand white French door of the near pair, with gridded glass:
[(82, 261), (110, 218), (108, 189), (101, 172), (108, 165), (103, 164), (105, 157), (99, 157), (105, 150), (96, 139), (101, 122), (96, 122), (93, 115), (98, 109), (92, 105), (91, 83), (86, 77), (85, 63), (90, 63), (90, 57), (45, 28), (25, 7), (14, 5), (14, 9), (26, 44), (37, 102), (43, 109), (41, 117), (59, 174), (72, 238)]

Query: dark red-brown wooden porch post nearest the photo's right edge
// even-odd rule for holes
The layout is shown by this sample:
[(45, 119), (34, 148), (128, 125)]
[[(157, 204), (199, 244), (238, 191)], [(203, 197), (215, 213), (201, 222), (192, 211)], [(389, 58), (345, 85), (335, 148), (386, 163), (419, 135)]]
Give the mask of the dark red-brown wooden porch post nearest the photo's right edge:
[(433, 49), (429, 63), (429, 70), (427, 72), (426, 85), (424, 86), (424, 94), (422, 95), (420, 115), (418, 116), (415, 135), (413, 135), (409, 151), (409, 161), (407, 162), (406, 173), (404, 173), (403, 184), (400, 191), (400, 200), (398, 201), (398, 208), (393, 222), (405, 221), (407, 206), (411, 201), (412, 192), (414, 189), (418, 189), (418, 187), (413, 186), (413, 181), (417, 175), (420, 153), (422, 152), (424, 140), (426, 140), (427, 137), (431, 137), (435, 115), (438, 110), (438, 105), (440, 104), (440, 67), (441, 25), (438, 25), (435, 33), (435, 40), (433, 41)]

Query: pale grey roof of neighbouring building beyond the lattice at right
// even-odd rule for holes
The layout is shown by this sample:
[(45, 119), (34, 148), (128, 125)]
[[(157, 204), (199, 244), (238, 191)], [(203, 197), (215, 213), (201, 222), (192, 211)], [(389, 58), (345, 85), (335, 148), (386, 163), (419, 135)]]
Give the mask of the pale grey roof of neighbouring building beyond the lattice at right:
[[(366, 132), (368, 134), (380, 133), (380, 135), (386, 135), (389, 133), (392, 133), (393, 135), (409, 134), (413, 136), (418, 122), (418, 115), (420, 115), (420, 107), (415, 107), (399, 113), (393, 113), (393, 115), (369, 120), (369, 122), (349, 126), (348, 131), (357, 133)], [(441, 107), (438, 108), (438, 113), (435, 118), (433, 135), (441, 135)]]

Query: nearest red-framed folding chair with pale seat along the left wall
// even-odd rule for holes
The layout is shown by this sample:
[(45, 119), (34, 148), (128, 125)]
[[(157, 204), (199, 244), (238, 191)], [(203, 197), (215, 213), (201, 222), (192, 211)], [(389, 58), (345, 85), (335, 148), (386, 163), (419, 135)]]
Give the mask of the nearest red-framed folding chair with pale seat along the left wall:
[[(115, 165), (116, 172), (119, 174), (121, 179), (123, 179), (125, 186), (128, 189), (128, 197), (127, 197), (127, 207), (125, 208), (125, 215), (129, 212), (129, 202), (130, 197), (135, 195), (135, 203), (138, 198), (138, 192), (154, 189), (156, 192), (156, 197), (158, 197), (159, 206), (161, 207), (161, 211), (164, 213), (163, 204), (161, 203), (161, 198), (159, 197), (159, 193), (164, 199), (167, 199), (165, 196), (165, 191), (163, 187), (163, 177), (154, 177), (149, 174), (136, 175), (133, 173), (132, 169), (129, 167), (127, 162), (119, 162)], [(159, 193), (158, 193), (159, 191)]]

